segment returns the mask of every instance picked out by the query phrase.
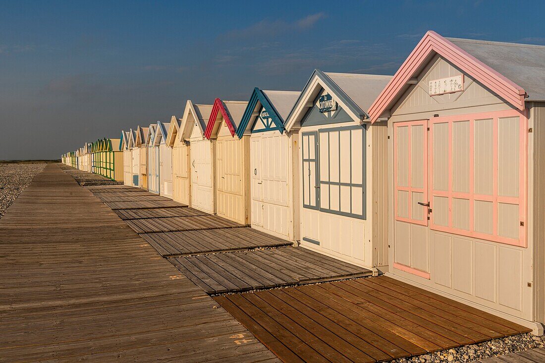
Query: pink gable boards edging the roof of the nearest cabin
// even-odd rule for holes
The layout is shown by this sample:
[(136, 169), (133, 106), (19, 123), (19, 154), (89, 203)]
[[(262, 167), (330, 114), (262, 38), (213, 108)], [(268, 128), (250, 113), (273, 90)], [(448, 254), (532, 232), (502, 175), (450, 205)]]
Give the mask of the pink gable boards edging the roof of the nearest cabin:
[(368, 111), (371, 122), (375, 122), (384, 111), (389, 110), (399, 94), (403, 92), (404, 86), (410, 78), (414, 77), (422, 69), (434, 53), (438, 53), (451, 61), (459, 69), (474, 77), (514, 107), (524, 110), (526, 92), (522, 87), (499, 74), (499, 72), (479, 61), (479, 59), (462, 50), (448, 39), (429, 31), (416, 45), (409, 57), (405, 59), (405, 62), (399, 67), (377, 99), (374, 100)]

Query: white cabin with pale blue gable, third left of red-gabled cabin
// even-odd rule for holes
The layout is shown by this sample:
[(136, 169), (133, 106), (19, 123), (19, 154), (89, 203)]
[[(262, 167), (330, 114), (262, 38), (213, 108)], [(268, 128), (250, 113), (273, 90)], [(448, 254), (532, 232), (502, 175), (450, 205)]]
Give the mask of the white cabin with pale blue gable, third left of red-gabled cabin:
[(167, 132), (170, 123), (158, 121), (153, 138), (153, 146), (156, 147), (159, 160), (159, 193), (172, 199), (172, 148), (166, 144)]

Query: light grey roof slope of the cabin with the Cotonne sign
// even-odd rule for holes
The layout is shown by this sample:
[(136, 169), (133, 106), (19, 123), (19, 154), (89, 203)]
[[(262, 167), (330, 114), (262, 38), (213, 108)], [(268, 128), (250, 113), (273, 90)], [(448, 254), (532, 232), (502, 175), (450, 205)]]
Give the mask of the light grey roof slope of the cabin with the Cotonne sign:
[(365, 113), (392, 78), (370, 74), (324, 73)]

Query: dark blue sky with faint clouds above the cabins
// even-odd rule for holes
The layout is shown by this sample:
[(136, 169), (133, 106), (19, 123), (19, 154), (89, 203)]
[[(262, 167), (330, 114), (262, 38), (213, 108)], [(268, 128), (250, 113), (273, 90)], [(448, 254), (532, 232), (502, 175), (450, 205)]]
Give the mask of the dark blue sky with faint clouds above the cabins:
[(57, 159), (187, 99), (393, 74), (429, 29), (545, 45), (545, 2), (0, 2), (0, 160)]

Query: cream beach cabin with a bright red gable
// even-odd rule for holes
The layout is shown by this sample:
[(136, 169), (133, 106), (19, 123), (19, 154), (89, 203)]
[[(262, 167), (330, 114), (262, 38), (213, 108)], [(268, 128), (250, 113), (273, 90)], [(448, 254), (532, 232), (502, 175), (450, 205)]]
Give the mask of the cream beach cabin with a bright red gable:
[(248, 102), (216, 98), (204, 136), (213, 140), (216, 214), (250, 223), (250, 136), (235, 135)]

